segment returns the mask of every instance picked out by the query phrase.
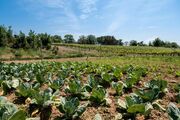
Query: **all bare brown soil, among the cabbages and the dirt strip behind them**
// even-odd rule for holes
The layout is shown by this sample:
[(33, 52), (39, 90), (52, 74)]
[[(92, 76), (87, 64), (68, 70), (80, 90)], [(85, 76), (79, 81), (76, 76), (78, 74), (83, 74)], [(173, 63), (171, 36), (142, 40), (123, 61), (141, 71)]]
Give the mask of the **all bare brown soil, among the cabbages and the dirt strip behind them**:
[[(98, 58), (96, 57), (90, 57), (88, 58), (89, 60), (96, 60)], [(22, 60), (22, 61), (13, 61), (15, 63), (29, 63), (29, 62), (39, 62), (41, 60)], [(86, 61), (86, 57), (83, 58), (62, 58), (62, 59), (53, 59), (53, 60), (43, 60), (43, 61), (56, 61), (56, 62), (64, 62), (64, 61)], [(7, 63), (12, 62), (12, 61), (8, 61)], [(168, 92), (166, 93), (166, 95), (162, 98), (162, 101), (160, 101), (160, 104), (162, 105), (162, 107), (164, 107), (165, 109), (167, 109), (167, 105), (170, 102), (175, 103), (175, 91), (172, 89), (174, 84), (177, 84), (180, 82), (180, 78), (175, 77), (175, 75), (172, 74), (167, 74), (167, 72), (163, 71), (165, 69), (165, 67), (161, 68), (158, 72), (161, 73), (161, 78), (163, 80), (167, 80), (168, 81)], [(163, 73), (164, 72), (164, 73)], [(137, 87), (143, 87), (144, 83), (152, 80), (154, 78), (154, 72), (150, 72), (147, 74), (146, 77), (142, 77), (141, 81), (137, 84)], [(157, 73), (157, 71), (155, 72)], [(125, 78), (121, 78), (121, 79), (125, 79)], [(83, 75), (82, 76), (82, 83), (85, 84), (87, 83), (87, 75)], [(43, 84), (41, 89), (45, 90), (48, 86), (46, 84)], [(136, 88), (135, 88), (136, 89)], [(88, 106), (86, 111), (82, 114), (82, 116), (80, 117), (81, 120), (93, 120), (94, 116), (96, 114), (100, 114), (103, 118), (103, 120), (114, 120), (115, 116), (118, 114), (117, 111), (117, 107), (116, 107), (116, 98), (115, 98), (115, 91), (112, 88), (108, 88), (107, 92), (109, 94), (109, 99), (111, 99), (111, 104), (109, 106)], [(2, 90), (0, 89), (0, 95), (2, 95)], [(61, 96), (67, 96), (67, 94), (64, 92), (64, 87), (62, 87), (62, 89), (60, 89), (60, 95)], [(119, 98), (124, 100), (125, 96), (127, 94), (123, 94), (122, 96), (120, 96)], [(10, 94), (8, 94), (7, 99), (10, 102), (13, 102), (18, 99), (13, 92), (11, 92)], [(180, 107), (179, 104), (175, 103), (178, 107)], [(18, 105), (21, 108), (27, 109), (27, 106), (24, 106), (24, 104), (22, 105)], [(36, 114), (36, 116), (38, 116), (38, 113)], [(57, 116), (62, 116), (62, 113), (60, 113), (58, 111), (58, 109), (53, 106), (52, 107), (52, 114), (50, 119), (53, 120), (55, 117)], [(149, 115), (148, 118), (146, 118), (143, 115), (137, 114), (136, 116), (136, 120), (168, 120), (168, 115), (166, 112), (163, 111), (159, 111), (159, 110), (152, 110), (151, 114)]]

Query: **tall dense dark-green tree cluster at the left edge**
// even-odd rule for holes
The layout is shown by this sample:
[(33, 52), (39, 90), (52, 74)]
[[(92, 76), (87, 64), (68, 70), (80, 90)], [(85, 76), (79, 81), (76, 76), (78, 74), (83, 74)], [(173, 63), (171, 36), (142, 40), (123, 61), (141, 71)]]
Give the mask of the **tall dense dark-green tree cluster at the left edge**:
[(19, 34), (13, 34), (12, 28), (0, 26), (0, 47), (11, 48), (24, 48), (24, 49), (50, 49), (52, 42), (61, 40), (61, 36), (51, 36), (47, 33), (36, 34), (33, 30), (30, 30), (28, 35), (25, 35), (22, 31)]

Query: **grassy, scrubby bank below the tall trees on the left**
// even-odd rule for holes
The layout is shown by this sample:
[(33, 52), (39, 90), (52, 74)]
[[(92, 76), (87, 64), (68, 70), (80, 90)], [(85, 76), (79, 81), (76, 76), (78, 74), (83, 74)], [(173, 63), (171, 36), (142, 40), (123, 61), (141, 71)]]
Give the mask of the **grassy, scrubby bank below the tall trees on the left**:
[[(69, 49), (69, 48), (68, 48)], [(57, 59), (57, 58), (74, 58), (93, 56), (91, 53), (80, 52), (79, 50), (69, 51), (65, 50), (63, 53), (61, 50), (58, 54), (53, 53), (52, 50), (35, 50), (35, 49), (12, 49), (12, 48), (0, 48), (0, 60), (33, 60), (33, 59)]]

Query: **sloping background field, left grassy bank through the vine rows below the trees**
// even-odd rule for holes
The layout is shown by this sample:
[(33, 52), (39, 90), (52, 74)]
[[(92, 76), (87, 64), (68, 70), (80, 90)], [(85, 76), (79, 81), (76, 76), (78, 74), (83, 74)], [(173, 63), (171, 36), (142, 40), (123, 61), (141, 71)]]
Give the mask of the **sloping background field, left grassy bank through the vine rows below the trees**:
[(80, 44), (53, 44), (50, 50), (0, 48), (0, 60), (3, 61), (117, 56), (180, 56), (180, 49)]

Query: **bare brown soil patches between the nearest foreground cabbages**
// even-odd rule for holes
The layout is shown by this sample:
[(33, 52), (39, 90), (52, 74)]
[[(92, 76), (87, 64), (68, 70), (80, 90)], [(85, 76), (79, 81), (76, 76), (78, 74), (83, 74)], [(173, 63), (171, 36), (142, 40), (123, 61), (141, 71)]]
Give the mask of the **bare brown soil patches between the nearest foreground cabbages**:
[[(85, 82), (85, 79), (87, 79), (86, 76), (83, 77), (84, 82)], [(143, 81), (145, 82), (146, 78), (144, 78)], [(47, 88), (47, 85), (45, 85), (45, 84), (41, 87), (42, 90), (44, 90), (46, 88)], [(115, 91), (113, 89), (108, 88), (107, 92), (109, 93), (108, 98), (111, 99), (112, 103), (109, 106), (99, 106), (99, 107), (89, 106), (89, 107), (87, 107), (86, 111), (80, 117), (81, 120), (93, 120), (94, 116), (96, 114), (100, 114), (101, 117), (103, 118), (103, 120), (114, 120), (115, 119), (115, 116), (118, 114), (117, 107), (116, 107), (116, 101), (115, 101), (116, 99), (114, 97)], [(61, 94), (61, 96), (67, 96), (67, 94), (64, 91), (61, 91), (60, 94)], [(123, 94), (119, 98), (121, 98), (123, 100), (126, 95), (127, 94)], [(169, 102), (174, 102), (174, 96), (175, 96), (174, 91), (172, 91), (170, 89), (169, 93), (167, 93), (162, 98), (162, 101), (160, 103), (162, 105), (162, 107), (164, 107), (166, 109), (166, 106), (169, 104)], [(10, 102), (14, 102), (14, 100), (17, 99), (14, 92), (8, 94), (6, 97)], [(23, 105), (24, 104), (18, 105), (18, 106), (21, 108), (27, 107), (27, 106), (23, 106)], [(27, 108), (24, 108), (24, 109), (27, 109)], [(35, 116), (38, 117), (39, 113), (37, 112), (35, 114), (36, 114)], [(62, 116), (62, 114), (58, 111), (58, 109), (55, 106), (53, 106), (50, 119), (53, 120), (57, 116)], [(136, 116), (136, 120), (145, 120), (145, 119), (147, 119), (147, 120), (168, 120), (168, 115), (166, 112), (162, 112), (159, 110), (152, 110), (149, 118), (145, 118), (143, 115), (140, 115), (140, 114), (137, 114), (137, 116)]]

